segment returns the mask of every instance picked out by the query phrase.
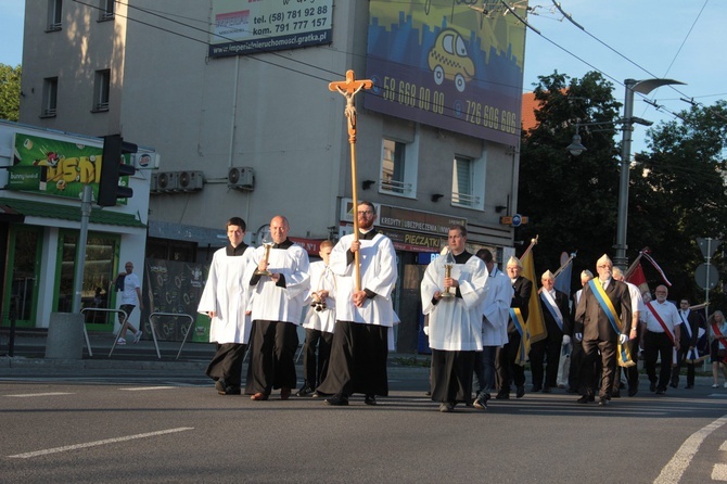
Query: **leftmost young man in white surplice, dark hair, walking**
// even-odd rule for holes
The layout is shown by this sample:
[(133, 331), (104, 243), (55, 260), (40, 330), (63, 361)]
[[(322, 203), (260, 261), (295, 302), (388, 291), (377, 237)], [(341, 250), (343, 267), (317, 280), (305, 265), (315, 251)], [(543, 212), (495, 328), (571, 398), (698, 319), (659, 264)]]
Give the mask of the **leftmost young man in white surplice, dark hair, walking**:
[(220, 395), (240, 395), (242, 361), (245, 357), (252, 322), (245, 314), (250, 301), (247, 281), (255, 268), (253, 249), (242, 239), (245, 221), (232, 217), (227, 221), (230, 243), (216, 251), (207, 275), (207, 282), (197, 311), (209, 316), (209, 342), (217, 352), (207, 366), (207, 375), (215, 380)]

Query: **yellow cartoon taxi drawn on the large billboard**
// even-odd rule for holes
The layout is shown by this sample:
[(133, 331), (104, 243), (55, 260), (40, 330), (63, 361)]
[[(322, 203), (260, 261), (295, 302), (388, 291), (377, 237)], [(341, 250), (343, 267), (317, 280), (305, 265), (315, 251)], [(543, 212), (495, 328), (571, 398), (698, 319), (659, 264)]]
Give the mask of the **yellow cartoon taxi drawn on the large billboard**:
[(467, 81), (474, 77), (474, 63), (467, 54), (462, 36), (451, 28), (442, 30), (429, 52), (429, 68), (438, 85), (444, 79), (455, 81), (459, 92), (464, 92)]

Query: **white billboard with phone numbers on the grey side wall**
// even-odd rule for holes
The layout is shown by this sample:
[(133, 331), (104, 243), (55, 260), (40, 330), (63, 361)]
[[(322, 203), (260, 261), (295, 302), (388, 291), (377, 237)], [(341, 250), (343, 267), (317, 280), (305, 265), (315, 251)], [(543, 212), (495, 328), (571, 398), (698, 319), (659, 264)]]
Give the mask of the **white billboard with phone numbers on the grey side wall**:
[(332, 0), (216, 0), (209, 56), (331, 43)]

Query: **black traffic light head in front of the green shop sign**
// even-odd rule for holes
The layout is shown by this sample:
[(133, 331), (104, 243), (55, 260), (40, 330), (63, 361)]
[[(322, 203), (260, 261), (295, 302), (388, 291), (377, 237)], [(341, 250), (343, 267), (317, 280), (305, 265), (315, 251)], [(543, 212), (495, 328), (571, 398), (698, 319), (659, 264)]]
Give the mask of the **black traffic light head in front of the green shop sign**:
[(99, 178), (99, 206), (115, 206), (117, 199), (129, 199), (133, 190), (119, 187), (118, 180), (136, 173), (136, 168), (124, 163), (122, 155), (136, 153), (133, 143), (127, 143), (120, 135), (103, 137), (103, 157), (101, 158), (101, 177)]

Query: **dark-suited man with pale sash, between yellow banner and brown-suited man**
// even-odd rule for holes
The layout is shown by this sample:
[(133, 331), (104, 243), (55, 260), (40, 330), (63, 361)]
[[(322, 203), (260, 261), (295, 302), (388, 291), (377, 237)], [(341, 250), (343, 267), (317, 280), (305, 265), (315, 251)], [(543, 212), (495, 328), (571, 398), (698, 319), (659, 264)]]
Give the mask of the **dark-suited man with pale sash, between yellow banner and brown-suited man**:
[[(558, 386), (558, 360), (563, 344), (564, 328), (570, 327), (567, 295), (556, 290), (556, 276), (546, 270), (540, 277), (543, 288), (538, 291), (543, 318), (545, 320), (548, 336), (531, 345), (531, 371), (533, 373), (533, 387), (531, 392), (550, 393), (551, 387)], [(547, 366), (544, 365), (547, 361)], [(545, 383), (543, 381), (543, 369), (545, 371)]]

